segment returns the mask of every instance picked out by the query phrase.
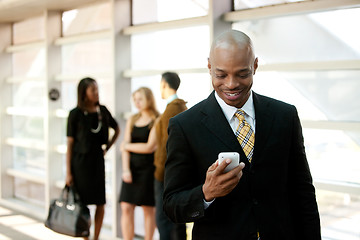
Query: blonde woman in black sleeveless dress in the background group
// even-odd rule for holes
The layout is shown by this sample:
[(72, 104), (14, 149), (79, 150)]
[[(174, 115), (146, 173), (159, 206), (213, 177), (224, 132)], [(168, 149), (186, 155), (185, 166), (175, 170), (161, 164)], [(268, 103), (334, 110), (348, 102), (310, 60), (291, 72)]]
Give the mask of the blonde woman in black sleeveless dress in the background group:
[[(133, 93), (139, 112), (126, 123), (124, 142), (147, 142), (155, 119), (159, 116), (154, 96), (142, 87)], [(156, 228), (154, 197), (154, 154), (129, 153), (122, 149), (122, 187), (120, 193), (121, 230), (124, 240), (134, 238), (134, 211), (144, 211), (145, 240), (151, 240)]]

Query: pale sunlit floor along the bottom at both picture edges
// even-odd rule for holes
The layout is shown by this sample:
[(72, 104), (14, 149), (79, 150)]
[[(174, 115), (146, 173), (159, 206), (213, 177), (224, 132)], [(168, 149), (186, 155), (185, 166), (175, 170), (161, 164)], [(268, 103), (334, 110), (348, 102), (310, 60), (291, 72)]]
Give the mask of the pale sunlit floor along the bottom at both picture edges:
[[(360, 240), (360, 198), (319, 194), (323, 240)], [(116, 240), (101, 235), (101, 240)], [(42, 221), (0, 206), (0, 240), (70, 240)], [(119, 239), (117, 239), (119, 240)], [(139, 239), (138, 239), (139, 240)]]

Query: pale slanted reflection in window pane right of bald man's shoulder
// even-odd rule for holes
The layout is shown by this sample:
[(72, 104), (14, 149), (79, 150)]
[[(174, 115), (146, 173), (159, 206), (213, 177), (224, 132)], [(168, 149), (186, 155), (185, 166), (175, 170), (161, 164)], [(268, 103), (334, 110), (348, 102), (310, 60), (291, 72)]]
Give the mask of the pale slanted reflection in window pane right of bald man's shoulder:
[(331, 121), (360, 121), (360, 71), (283, 72), (304, 98)]

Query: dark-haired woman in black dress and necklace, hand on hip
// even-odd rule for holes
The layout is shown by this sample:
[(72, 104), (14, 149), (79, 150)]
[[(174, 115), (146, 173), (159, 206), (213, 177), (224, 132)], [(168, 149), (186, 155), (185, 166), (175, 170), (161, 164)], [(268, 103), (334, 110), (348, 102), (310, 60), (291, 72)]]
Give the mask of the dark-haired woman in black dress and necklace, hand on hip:
[[(115, 130), (110, 139), (109, 128)], [(99, 238), (106, 203), (104, 155), (119, 133), (115, 119), (99, 104), (96, 81), (82, 79), (78, 85), (77, 107), (68, 117), (66, 185), (74, 184), (83, 203), (96, 205), (95, 240)]]

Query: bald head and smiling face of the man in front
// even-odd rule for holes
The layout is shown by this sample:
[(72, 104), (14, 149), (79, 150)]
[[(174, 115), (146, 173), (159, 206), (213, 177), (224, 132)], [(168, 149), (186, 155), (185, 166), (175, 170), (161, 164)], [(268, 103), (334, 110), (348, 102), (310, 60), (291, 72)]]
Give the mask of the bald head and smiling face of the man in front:
[(229, 106), (241, 108), (248, 100), (258, 67), (250, 38), (231, 30), (211, 46), (208, 68), (214, 90)]

